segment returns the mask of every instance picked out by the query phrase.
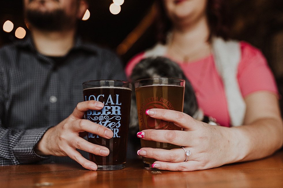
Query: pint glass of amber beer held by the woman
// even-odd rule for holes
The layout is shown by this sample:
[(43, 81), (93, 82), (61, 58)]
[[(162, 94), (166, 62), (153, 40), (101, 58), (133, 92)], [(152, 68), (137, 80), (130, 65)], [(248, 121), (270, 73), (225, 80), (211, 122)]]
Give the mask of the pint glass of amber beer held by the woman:
[[(135, 82), (135, 94), (137, 101), (137, 113), (139, 118), (139, 130), (167, 129), (181, 130), (173, 123), (154, 119), (146, 115), (147, 109), (160, 108), (183, 112), (185, 80), (176, 78), (150, 78)], [(161, 143), (151, 140), (141, 140), (142, 147), (173, 149), (180, 146), (170, 143)], [(144, 168), (153, 170), (152, 163), (155, 159), (143, 157)]]

